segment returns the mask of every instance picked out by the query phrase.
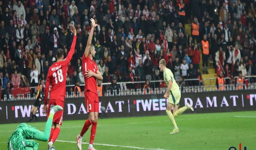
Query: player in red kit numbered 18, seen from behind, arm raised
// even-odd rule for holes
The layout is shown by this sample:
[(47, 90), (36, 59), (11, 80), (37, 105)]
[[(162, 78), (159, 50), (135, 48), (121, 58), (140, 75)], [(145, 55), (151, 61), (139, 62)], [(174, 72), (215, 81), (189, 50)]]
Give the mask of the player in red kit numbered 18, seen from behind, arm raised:
[[(74, 34), (73, 42), (70, 48), (70, 51), (65, 59), (62, 49), (57, 50), (57, 62), (54, 62), (52, 66), (49, 68), (47, 79), (46, 79), (46, 86), (45, 86), (45, 97), (44, 97), (44, 114), (47, 110), (47, 117), (50, 113), (50, 106), (51, 105), (60, 105), (64, 109), (64, 98), (66, 97), (66, 76), (67, 76), (67, 67), (68, 63), (72, 59), (74, 54), (74, 49), (76, 46), (76, 28), (75, 26), (71, 25), (70, 28), (72, 29), (71, 32)], [(50, 82), (52, 82), (52, 88), (50, 90), (50, 100), (47, 109), (47, 99), (48, 99), (48, 90), (50, 86)], [(48, 149), (52, 149), (52, 145), (55, 140), (58, 138), (60, 133), (60, 126), (62, 125), (63, 119), (63, 110), (54, 114), (53, 122), (52, 122), (52, 129), (48, 143)]]

